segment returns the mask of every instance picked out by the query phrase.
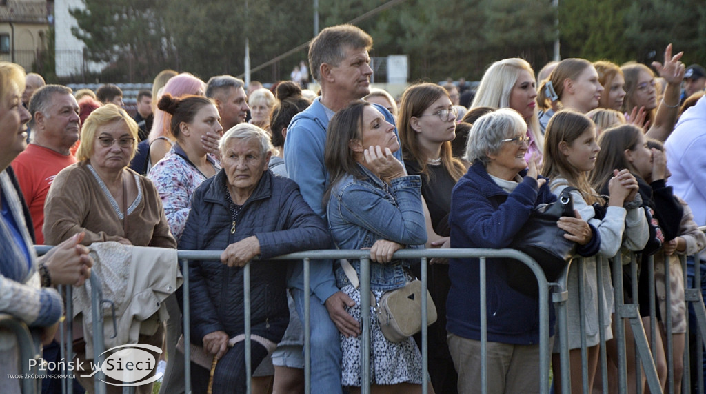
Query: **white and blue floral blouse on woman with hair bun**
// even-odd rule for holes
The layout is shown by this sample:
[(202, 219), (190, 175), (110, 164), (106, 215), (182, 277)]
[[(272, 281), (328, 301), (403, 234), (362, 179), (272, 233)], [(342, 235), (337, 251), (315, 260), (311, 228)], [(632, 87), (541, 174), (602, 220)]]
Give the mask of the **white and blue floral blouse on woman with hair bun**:
[[(206, 155), (206, 158), (216, 172), (219, 172), (220, 164), (210, 155)], [(169, 229), (179, 242), (181, 233), (184, 232), (186, 218), (189, 217), (191, 194), (208, 177), (193, 165), (178, 143), (175, 143), (172, 150), (169, 150), (169, 153), (150, 169), (147, 177), (152, 179), (160, 193)]]

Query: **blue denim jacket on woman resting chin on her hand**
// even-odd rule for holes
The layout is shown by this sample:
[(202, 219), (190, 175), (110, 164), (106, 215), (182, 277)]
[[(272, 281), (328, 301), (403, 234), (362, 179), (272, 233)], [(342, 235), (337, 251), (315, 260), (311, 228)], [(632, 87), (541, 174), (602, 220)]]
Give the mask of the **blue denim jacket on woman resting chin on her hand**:
[[(331, 236), (339, 249), (370, 248), (378, 239), (407, 245), (409, 249), (424, 248), (426, 227), (421, 207), (419, 175), (393, 179), (390, 185), (359, 165), (364, 179), (351, 174), (333, 186), (328, 200), (327, 217)], [(358, 275), (360, 261), (349, 260)], [(388, 291), (407, 282), (405, 267), (410, 261), (370, 264), (370, 285), (373, 290)], [(348, 284), (342, 268), (336, 270), (338, 287)]]

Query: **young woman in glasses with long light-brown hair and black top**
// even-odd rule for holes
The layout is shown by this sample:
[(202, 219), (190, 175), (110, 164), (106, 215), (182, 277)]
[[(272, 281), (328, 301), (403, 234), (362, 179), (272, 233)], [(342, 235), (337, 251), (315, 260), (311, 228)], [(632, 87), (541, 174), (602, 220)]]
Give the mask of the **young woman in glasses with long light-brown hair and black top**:
[[(413, 85), (402, 95), (397, 130), (405, 167), (410, 175), (421, 177), (421, 196), (429, 210), (431, 226), (444, 237), (431, 246), (448, 248), (451, 191), (465, 173), (465, 166), (453, 157), (451, 149), (456, 136), (456, 115), (447, 90), (435, 83)], [(430, 265), (429, 291), (439, 318), (429, 327), (429, 376), (437, 393), (456, 392), (457, 375), (446, 345), (445, 303), (449, 287), (448, 265)]]

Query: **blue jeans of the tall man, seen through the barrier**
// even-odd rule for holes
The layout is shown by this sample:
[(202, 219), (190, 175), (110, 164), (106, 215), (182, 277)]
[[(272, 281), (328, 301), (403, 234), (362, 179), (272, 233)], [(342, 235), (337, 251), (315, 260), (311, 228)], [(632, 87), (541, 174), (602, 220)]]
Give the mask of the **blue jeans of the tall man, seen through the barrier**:
[[(304, 292), (293, 288), (292, 297), (304, 326)], [(310, 301), (311, 393), (342, 393), (340, 333), (321, 300), (311, 294)]]

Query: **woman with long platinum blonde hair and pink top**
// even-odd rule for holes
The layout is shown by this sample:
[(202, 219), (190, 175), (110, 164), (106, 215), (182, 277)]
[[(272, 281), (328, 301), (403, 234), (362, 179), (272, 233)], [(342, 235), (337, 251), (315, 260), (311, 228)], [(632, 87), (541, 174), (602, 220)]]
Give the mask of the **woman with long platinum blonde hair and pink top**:
[(525, 59), (510, 58), (496, 61), (486, 70), (478, 86), (476, 97), (470, 109), (477, 107), (511, 108), (515, 109), (527, 123), (526, 136), (527, 154), (525, 160), (530, 160), (532, 154), (539, 155), (542, 161), (544, 138), (537, 115), (537, 82), (534, 71)]

